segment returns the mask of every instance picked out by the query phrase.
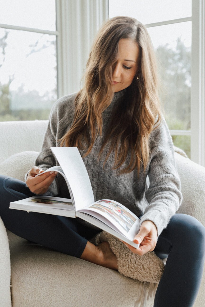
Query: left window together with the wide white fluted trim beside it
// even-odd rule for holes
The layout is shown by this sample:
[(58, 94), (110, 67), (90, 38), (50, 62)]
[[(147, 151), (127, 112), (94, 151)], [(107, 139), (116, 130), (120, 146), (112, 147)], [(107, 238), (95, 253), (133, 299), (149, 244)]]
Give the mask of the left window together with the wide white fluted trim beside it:
[[(6, 12), (6, 14), (5, 14)], [(7, 0), (0, 10), (0, 121), (48, 119), (79, 91), (108, 0)]]

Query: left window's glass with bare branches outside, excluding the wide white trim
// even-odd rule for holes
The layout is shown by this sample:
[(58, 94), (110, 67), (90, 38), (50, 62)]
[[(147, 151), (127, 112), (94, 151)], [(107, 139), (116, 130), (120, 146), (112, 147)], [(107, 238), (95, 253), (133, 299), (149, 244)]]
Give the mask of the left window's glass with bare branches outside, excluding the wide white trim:
[(57, 99), (55, 0), (0, 10), (0, 120), (47, 119)]

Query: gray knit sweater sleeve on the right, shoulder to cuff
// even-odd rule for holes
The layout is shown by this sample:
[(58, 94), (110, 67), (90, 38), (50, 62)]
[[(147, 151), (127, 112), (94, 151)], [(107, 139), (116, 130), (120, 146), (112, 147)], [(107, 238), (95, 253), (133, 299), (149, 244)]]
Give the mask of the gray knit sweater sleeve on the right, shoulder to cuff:
[(151, 159), (148, 169), (149, 188), (145, 192), (148, 205), (141, 223), (151, 220), (157, 235), (167, 227), (182, 202), (181, 184), (175, 167), (174, 147), (164, 119), (150, 135)]

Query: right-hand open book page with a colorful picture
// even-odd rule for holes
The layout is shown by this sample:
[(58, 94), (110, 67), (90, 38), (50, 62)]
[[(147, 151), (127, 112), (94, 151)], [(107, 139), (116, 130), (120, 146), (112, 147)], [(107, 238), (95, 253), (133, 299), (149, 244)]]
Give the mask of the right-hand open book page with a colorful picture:
[(81, 209), (80, 212), (94, 216), (109, 227), (114, 225), (114, 229), (118, 229), (118, 232), (131, 240), (134, 239), (138, 232), (137, 226), (140, 223), (140, 219), (117, 201), (109, 199), (98, 200), (94, 204)]

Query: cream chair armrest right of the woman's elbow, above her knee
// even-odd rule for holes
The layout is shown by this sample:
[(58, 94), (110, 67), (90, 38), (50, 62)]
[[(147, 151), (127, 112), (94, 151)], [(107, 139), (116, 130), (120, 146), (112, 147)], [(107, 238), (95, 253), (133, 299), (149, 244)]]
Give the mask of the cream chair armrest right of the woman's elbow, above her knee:
[(175, 153), (183, 201), (177, 213), (195, 217), (205, 226), (205, 167)]

